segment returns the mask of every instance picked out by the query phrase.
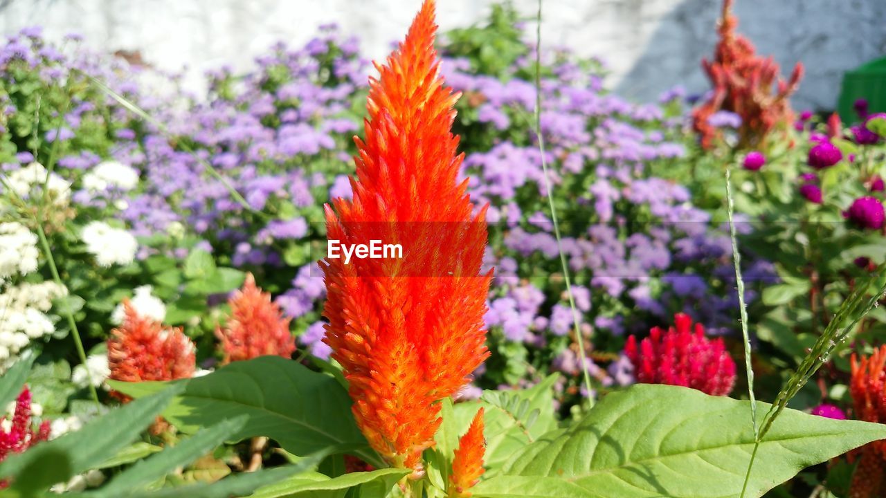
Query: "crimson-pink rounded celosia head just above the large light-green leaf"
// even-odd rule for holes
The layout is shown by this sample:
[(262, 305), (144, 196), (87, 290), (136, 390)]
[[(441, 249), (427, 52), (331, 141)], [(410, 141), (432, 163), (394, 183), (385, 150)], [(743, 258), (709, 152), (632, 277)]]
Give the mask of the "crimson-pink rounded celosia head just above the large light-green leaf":
[(678, 313), (676, 330), (658, 327), (649, 331), (637, 348), (637, 339), (627, 338), (625, 354), (633, 363), (634, 376), (642, 384), (683, 385), (713, 396), (726, 396), (735, 382), (735, 362), (722, 338), (704, 337), (704, 327)]

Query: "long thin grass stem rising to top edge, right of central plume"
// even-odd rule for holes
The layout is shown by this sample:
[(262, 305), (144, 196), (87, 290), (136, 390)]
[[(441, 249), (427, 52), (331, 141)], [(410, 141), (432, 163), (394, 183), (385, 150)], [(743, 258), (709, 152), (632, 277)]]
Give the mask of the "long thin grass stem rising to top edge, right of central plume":
[(591, 374), (587, 371), (587, 357), (585, 354), (585, 339), (581, 337), (579, 328), (579, 310), (575, 307), (575, 299), (572, 297), (572, 282), (569, 276), (569, 264), (566, 262), (566, 253), (563, 252), (563, 240), (560, 237), (560, 225), (556, 218), (554, 207), (554, 193), (548, 178), (548, 160), (545, 160), (545, 139), (541, 135), (541, 0), (539, 0), (538, 27), (536, 29), (535, 43), (535, 135), (539, 137), (539, 151), (541, 155), (541, 170), (545, 174), (545, 190), (548, 191), (548, 206), (551, 210), (551, 222), (554, 223), (554, 237), (556, 237), (557, 252), (560, 253), (560, 265), (563, 267), (563, 280), (566, 283), (566, 294), (569, 296), (569, 307), (572, 310), (572, 328), (575, 331), (575, 341), (579, 345), (579, 357), (581, 371), (585, 379), (587, 390), (587, 403), (594, 406), (594, 392), (591, 388)]

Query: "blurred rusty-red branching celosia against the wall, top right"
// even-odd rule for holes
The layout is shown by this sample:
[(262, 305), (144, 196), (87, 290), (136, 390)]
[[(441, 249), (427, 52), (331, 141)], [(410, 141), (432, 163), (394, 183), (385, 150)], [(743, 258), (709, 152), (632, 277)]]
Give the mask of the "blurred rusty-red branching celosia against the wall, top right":
[[(711, 148), (719, 132), (708, 119), (720, 110), (731, 111), (742, 117), (739, 146), (765, 150), (766, 136), (773, 129), (787, 129), (794, 121), (789, 97), (803, 76), (803, 65), (794, 66), (788, 82), (781, 80), (773, 58), (758, 57), (753, 44), (735, 34), (738, 20), (732, 13), (732, 3), (723, 2), (717, 28), (720, 40), (713, 61), (702, 61), (714, 89), (711, 98), (693, 111), (693, 126), (701, 135), (702, 146)], [(773, 85), (777, 87), (775, 93)]]

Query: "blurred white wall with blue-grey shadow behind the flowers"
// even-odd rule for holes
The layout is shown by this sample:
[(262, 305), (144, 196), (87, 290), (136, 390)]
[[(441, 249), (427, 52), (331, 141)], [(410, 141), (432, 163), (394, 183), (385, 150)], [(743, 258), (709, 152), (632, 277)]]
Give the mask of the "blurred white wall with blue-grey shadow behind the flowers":
[[(484, 19), (494, 0), (439, 0), (443, 29)], [(71, 32), (108, 51), (138, 51), (153, 66), (188, 66), (199, 89), (208, 68), (247, 70), (278, 40), (305, 43), (323, 23), (337, 23), (379, 58), (405, 32), (420, 0), (0, 0), (0, 30), (41, 25), (60, 39)], [(515, 0), (534, 19), (535, 0)], [(681, 84), (707, 88), (699, 61), (716, 42), (719, 0), (546, 0), (543, 43), (602, 57), (609, 85), (651, 100)], [(831, 109), (843, 71), (886, 53), (886, 0), (736, 0), (739, 31), (789, 73), (806, 76), (799, 108)], [(527, 27), (533, 27), (532, 21)], [(534, 36), (534, 31), (532, 31)]]

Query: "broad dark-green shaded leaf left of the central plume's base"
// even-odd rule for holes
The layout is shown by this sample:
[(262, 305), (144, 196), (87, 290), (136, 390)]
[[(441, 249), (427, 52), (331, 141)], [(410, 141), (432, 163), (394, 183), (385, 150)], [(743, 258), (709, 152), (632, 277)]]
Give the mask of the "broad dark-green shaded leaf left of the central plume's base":
[[(331, 447), (333, 453), (360, 455), (382, 466), (354, 423), (345, 389), (333, 377), (307, 370), (299, 362), (262, 356), (179, 382), (185, 385), (184, 391), (163, 416), (182, 432), (197, 432), (200, 427), (245, 415), (245, 426), (231, 436), (232, 440), (268, 436), (295, 455)], [(111, 384), (136, 398), (164, 385)]]

